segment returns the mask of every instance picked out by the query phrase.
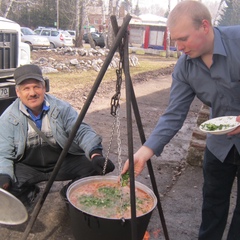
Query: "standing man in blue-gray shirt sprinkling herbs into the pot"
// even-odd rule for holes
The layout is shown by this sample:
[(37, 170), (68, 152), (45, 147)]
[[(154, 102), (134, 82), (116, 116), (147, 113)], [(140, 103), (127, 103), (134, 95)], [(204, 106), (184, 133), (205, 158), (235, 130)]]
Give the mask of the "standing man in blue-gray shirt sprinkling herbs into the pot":
[[(168, 18), (170, 36), (183, 54), (173, 74), (169, 105), (144, 145), (134, 154), (138, 175), (154, 154), (159, 156), (186, 119), (195, 96), (210, 107), (210, 118), (238, 116), (240, 122), (240, 26), (213, 27), (201, 2), (182, 1)], [(228, 240), (240, 239), (240, 127), (228, 135), (207, 136), (199, 240), (221, 240), (232, 185), (238, 198)], [(122, 173), (128, 170), (129, 161)]]

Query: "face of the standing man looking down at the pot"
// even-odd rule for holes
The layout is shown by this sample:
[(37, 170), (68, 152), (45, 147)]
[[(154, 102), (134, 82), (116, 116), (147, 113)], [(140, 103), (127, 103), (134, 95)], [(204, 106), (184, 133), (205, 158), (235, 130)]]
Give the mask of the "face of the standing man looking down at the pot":
[(178, 50), (191, 58), (196, 58), (208, 54), (210, 50), (209, 27), (208, 22), (203, 20), (201, 26), (196, 29), (189, 17), (182, 17), (177, 24), (169, 28), (169, 31)]

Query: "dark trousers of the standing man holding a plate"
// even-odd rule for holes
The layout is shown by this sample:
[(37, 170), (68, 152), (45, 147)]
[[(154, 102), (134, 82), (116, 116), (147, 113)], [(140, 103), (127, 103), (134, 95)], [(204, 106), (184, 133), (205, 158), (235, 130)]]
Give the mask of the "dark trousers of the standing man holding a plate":
[(203, 205), (199, 240), (222, 240), (226, 227), (233, 182), (237, 200), (227, 240), (240, 239), (240, 155), (235, 146), (222, 163), (207, 148), (203, 164)]

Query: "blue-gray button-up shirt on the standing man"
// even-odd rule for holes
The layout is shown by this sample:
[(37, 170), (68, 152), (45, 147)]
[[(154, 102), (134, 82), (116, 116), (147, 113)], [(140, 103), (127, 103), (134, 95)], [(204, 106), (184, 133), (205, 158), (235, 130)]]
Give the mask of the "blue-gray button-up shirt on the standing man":
[[(213, 64), (209, 69), (201, 58), (183, 54), (172, 75), (169, 105), (144, 144), (159, 156), (164, 146), (182, 127), (197, 96), (210, 107), (211, 118), (240, 115), (240, 26), (214, 28)], [(221, 161), (240, 136), (207, 136), (207, 147)]]

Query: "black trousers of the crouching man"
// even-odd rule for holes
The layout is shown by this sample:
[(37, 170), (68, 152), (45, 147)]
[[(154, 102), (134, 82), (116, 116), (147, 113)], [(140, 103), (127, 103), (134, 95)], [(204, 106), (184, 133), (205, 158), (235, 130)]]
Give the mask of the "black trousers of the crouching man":
[[(44, 172), (35, 169), (23, 163), (15, 164), (15, 176), (17, 182), (13, 183), (12, 192), (21, 191), (34, 184), (48, 181), (52, 172)], [(77, 180), (87, 176), (97, 175), (97, 172), (92, 167), (92, 162), (86, 156), (76, 156), (68, 154), (64, 159), (55, 181)]]

